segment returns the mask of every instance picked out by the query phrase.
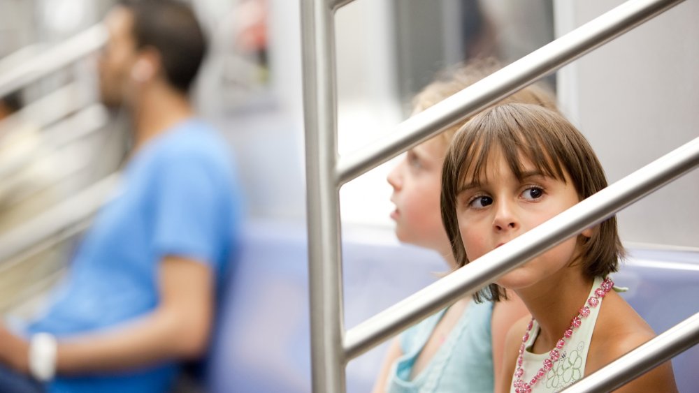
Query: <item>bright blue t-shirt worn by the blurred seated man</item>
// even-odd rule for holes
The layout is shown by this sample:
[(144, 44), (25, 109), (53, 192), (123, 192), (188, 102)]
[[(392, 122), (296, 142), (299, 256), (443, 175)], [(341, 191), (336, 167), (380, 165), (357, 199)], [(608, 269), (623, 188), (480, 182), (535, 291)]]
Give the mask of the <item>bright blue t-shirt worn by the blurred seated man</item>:
[[(101, 209), (71, 272), (29, 333), (95, 332), (152, 311), (159, 262), (168, 255), (210, 265), (217, 289), (236, 251), (240, 192), (225, 142), (189, 119), (130, 161), (120, 190)], [(128, 372), (56, 378), (50, 392), (166, 392), (174, 363)]]

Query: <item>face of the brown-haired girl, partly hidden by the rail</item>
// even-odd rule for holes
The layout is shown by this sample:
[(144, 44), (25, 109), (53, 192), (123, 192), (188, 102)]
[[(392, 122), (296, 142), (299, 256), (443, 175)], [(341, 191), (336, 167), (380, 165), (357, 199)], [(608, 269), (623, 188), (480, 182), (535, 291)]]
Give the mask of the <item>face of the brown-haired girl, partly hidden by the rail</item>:
[[(480, 258), (579, 202), (567, 173), (563, 182), (538, 172), (528, 160), (523, 172), (520, 181), (498, 149), (489, 156), (486, 178), (480, 184), (473, 179), (464, 182), (456, 196), (456, 217), (468, 260)], [(591, 236), (591, 230), (582, 235)], [(531, 286), (570, 265), (576, 258), (576, 244), (576, 237), (565, 240), (496, 282), (512, 290)]]

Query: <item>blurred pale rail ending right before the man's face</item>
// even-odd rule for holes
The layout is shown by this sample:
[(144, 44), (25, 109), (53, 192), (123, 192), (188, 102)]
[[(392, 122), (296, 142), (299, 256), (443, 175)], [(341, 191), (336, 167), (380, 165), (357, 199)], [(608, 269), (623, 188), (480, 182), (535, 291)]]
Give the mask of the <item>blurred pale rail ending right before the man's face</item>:
[(0, 75), (0, 96), (9, 94), (83, 57), (87, 57), (103, 47), (107, 38), (106, 27), (102, 23), (95, 24), (39, 54), (34, 59), (26, 61), (21, 67), (15, 67)]

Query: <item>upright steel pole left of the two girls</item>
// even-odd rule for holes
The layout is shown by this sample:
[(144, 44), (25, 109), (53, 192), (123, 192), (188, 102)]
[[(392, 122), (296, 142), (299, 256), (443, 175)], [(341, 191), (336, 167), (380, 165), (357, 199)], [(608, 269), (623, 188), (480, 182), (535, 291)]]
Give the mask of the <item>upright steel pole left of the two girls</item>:
[(333, 11), (301, 0), (312, 389), (345, 392)]

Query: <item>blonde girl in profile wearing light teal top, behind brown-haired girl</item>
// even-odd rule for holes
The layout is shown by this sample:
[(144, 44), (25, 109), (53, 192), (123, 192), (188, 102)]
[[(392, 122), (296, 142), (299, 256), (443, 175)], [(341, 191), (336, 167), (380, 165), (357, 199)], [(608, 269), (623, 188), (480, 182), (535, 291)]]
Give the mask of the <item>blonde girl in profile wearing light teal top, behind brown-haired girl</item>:
[[(415, 98), (415, 112), (442, 101), (496, 71), (492, 60), (472, 61), (448, 78), (437, 80)], [(527, 87), (503, 102), (526, 102), (554, 108), (552, 96)], [(462, 123), (463, 124), (463, 123)], [(438, 251), (449, 269), (461, 267), (452, 257), (440, 220), (442, 161), (456, 125), (410, 149), (391, 172), (391, 201), (396, 210), (396, 235), (401, 242)], [(526, 307), (508, 302), (476, 304), (470, 297), (411, 327), (394, 340), (384, 360), (374, 392), (493, 392), (500, 373), (505, 334), (526, 315)]]

